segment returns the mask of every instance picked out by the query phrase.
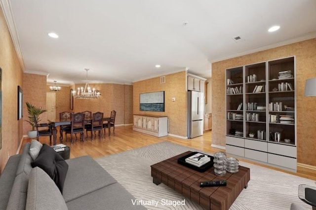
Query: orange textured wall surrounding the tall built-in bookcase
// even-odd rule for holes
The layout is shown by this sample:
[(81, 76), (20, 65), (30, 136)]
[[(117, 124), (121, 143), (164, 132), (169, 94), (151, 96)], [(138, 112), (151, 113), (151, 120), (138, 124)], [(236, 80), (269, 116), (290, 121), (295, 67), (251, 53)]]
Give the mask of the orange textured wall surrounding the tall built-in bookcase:
[(212, 64), (212, 143), (225, 146), (225, 69), (296, 56), (297, 162), (316, 166), (316, 97), (305, 97), (305, 80), (316, 77), (316, 38)]

